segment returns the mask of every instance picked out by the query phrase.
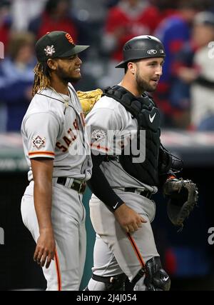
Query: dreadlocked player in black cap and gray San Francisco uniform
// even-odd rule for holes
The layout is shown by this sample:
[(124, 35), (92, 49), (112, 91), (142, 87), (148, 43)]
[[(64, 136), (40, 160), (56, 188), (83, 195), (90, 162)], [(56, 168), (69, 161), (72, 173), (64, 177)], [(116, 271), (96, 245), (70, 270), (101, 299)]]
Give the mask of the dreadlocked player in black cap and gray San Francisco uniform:
[(91, 156), (81, 104), (70, 82), (81, 79), (78, 53), (88, 46), (53, 31), (36, 43), (33, 99), (21, 125), (29, 186), (21, 215), (36, 241), (34, 261), (47, 290), (78, 290), (86, 256), (86, 181)]

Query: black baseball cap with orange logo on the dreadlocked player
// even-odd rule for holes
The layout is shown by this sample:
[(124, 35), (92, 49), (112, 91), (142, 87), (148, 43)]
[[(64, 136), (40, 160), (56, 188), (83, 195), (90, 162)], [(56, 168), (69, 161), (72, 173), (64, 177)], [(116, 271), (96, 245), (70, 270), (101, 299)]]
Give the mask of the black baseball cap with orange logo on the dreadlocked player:
[(88, 49), (88, 46), (74, 44), (71, 35), (66, 31), (51, 31), (36, 42), (35, 49), (38, 61), (45, 62), (47, 59), (78, 54)]

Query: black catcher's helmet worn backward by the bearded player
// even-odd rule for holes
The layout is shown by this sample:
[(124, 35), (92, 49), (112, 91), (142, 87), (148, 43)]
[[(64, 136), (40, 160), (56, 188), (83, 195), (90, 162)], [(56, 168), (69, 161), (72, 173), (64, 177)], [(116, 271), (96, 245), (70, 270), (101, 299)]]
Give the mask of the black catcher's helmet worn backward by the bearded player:
[(125, 68), (128, 61), (134, 59), (148, 59), (152, 57), (165, 57), (162, 42), (149, 35), (136, 36), (123, 46), (123, 61), (116, 68)]

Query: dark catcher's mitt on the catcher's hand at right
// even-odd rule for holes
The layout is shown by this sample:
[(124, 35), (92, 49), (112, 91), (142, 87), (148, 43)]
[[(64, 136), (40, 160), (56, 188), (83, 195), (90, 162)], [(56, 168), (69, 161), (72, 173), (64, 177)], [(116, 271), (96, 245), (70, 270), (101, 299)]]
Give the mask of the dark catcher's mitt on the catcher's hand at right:
[(197, 186), (188, 179), (168, 179), (163, 186), (163, 194), (169, 196), (167, 212), (170, 221), (182, 229), (183, 221), (197, 205)]

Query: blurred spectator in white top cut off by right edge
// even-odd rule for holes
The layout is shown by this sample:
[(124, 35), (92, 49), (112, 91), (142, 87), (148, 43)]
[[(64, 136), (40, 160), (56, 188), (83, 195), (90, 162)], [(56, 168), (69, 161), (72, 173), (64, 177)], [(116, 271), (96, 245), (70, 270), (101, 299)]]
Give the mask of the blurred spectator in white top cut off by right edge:
[[(195, 51), (193, 66), (195, 71), (187, 81), (193, 81), (190, 89), (191, 123), (198, 130), (214, 131), (214, 14), (202, 12), (195, 16), (193, 39)], [(195, 72), (195, 75), (194, 75)], [(184, 77), (184, 75), (183, 75)]]

